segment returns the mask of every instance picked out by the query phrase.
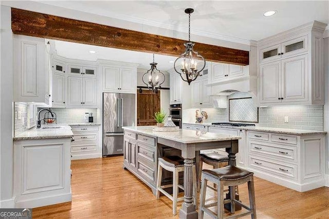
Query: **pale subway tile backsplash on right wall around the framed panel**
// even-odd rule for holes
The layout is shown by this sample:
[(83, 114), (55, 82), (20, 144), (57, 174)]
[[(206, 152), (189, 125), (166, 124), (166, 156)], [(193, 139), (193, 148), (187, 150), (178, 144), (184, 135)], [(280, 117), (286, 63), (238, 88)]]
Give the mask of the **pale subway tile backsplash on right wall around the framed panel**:
[[(235, 93), (229, 98), (251, 97), (248, 93)], [(204, 122), (229, 121), (229, 108), (201, 108), (206, 111), (208, 119)], [(248, 111), (248, 108), (246, 108)], [(192, 111), (191, 111), (192, 112)], [(289, 121), (284, 122), (288, 116)], [(323, 131), (323, 106), (322, 105), (291, 105), (259, 107), (259, 126), (280, 127), (285, 129), (303, 129)]]

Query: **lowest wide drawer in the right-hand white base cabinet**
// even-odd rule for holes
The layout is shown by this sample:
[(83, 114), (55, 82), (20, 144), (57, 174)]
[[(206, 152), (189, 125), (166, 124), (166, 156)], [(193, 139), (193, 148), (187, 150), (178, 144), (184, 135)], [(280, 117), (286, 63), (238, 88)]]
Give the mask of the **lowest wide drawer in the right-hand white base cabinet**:
[(297, 165), (259, 157), (250, 157), (250, 167), (288, 179), (297, 179)]

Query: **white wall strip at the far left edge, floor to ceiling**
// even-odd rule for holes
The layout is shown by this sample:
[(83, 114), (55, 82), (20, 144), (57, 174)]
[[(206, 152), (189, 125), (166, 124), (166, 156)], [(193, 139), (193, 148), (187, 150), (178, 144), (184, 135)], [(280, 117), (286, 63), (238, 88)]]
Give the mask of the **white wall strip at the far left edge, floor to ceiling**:
[(11, 9), (1, 6), (1, 72), (0, 72), (0, 207), (13, 208), (13, 36)]

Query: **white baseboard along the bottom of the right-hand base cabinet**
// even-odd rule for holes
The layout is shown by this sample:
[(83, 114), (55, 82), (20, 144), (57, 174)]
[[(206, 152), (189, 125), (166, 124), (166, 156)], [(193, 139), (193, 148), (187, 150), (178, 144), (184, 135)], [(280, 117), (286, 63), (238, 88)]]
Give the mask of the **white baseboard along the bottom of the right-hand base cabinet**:
[(311, 181), (311, 182), (306, 182), (304, 184), (299, 184), (298, 182), (291, 181), (291, 180), (288, 180), (288, 179), (284, 179), (284, 178), (278, 177), (278, 176), (273, 176), (271, 174), (264, 173), (264, 172), (261, 172), (261, 171), (258, 171), (258, 170), (249, 169), (249, 171), (253, 172), (254, 176), (256, 176), (256, 177), (268, 180), (270, 182), (273, 182), (273, 183), (278, 184), (280, 186), (287, 187), (289, 189), (296, 190), (298, 192), (306, 192), (308, 190), (320, 188), (320, 187), (323, 187), (325, 185), (325, 181), (324, 181), (323, 178), (318, 178), (318, 179), (315, 179), (314, 181)]

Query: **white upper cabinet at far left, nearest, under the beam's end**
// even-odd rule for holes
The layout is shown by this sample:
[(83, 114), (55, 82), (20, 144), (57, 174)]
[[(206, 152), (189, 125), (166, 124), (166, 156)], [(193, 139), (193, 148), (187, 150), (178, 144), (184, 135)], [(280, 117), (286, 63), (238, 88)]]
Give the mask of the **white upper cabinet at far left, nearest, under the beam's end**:
[(47, 41), (14, 35), (14, 101), (51, 104), (51, 68)]

